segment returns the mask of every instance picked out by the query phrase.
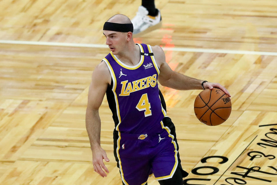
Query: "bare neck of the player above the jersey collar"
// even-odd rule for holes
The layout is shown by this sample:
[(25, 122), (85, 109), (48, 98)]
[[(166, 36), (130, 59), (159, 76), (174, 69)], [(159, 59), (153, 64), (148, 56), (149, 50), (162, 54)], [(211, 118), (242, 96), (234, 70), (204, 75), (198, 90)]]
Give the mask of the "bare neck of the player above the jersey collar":
[(141, 50), (139, 46), (133, 42), (130, 43), (130, 45), (126, 45), (126, 49), (118, 53), (116, 56), (124, 64), (135, 66), (141, 60)]

